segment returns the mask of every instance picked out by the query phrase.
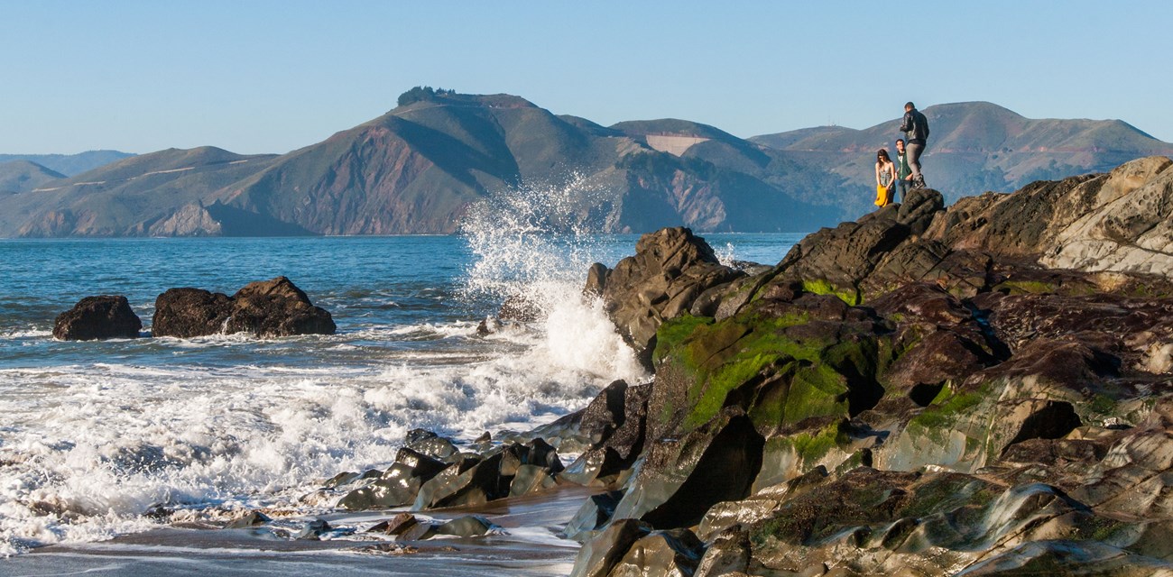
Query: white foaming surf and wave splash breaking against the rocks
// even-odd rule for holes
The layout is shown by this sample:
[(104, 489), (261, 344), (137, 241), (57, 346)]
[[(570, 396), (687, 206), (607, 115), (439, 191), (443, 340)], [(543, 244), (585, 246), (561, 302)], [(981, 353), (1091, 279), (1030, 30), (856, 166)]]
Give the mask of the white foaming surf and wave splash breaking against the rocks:
[(0, 556), (142, 530), (157, 504), (176, 520), (320, 512), (332, 503), (301, 497), (339, 471), (386, 466), (412, 428), (470, 440), (577, 409), (613, 379), (643, 379), (602, 304), (579, 294), (594, 260), (588, 229), (544, 232), (568, 199), (520, 188), (472, 211), (467, 294), (542, 312), (487, 338), (472, 319), (163, 338), (109, 345), (148, 347), (145, 364), (94, 348), (93, 361), (75, 352), (0, 372)]

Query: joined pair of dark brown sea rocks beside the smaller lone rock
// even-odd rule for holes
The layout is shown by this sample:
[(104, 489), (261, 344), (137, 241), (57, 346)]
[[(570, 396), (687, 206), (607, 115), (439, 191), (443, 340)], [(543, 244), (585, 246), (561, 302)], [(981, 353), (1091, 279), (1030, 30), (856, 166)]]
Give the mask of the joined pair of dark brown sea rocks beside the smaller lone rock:
[(155, 299), (155, 337), (191, 338), (251, 333), (256, 337), (333, 334), (330, 313), (313, 306), (285, 277), (250, 283), (232, 297), (202, 288), (170, 288)]

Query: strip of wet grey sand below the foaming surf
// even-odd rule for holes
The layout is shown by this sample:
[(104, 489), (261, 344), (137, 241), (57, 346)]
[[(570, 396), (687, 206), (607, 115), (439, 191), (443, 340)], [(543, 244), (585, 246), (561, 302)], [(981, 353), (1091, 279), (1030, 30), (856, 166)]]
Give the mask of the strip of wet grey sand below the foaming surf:
[[(357, 532), (325, 541), (296, 541), (266, 528), (162, 528), (100, 543), (53, 545), (0, 559), (0, 575), (32, 576), (555, 576), (569, 575), (578, 543), (556, 534), (589, 496), (582, 487), (475, 508), (427, 511), (436, 520), (475, 514), (507, 535), (391, 542)], [(338, 512), (335, 528), (361, 528), (388, 518), (388, 511)], [(278, 520), (290, 521), (290, 520)], [(304, 521), (304, 520), (301, 520)], [(380, 547), (381, 545), (381, 547)], [(386, 552), (409, 545), (414, 552)]]

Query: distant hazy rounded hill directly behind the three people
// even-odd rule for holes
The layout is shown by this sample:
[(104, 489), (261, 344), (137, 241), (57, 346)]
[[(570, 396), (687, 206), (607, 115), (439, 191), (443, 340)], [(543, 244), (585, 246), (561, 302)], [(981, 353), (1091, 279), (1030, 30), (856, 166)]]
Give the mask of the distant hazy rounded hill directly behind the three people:
[[(922, 110), (931, 134), (922, 157), (929, 186), (947, 202), (985, 191), (1009, 192), (1035, 181), (1103, 172), (1140, 156), (1173, 155), (1173, 144), (1118, 121), (1035, 120), (989, 102), (938, 104)], [(820, 127), (754, 136), (845, 179), (845, 190), (875, 186), (875, 152), (895, 150), (900, 118), (865, 130)], [(849, 195), (852, 197), (853, 195)], [(854, 203), (856, 213), (867, 204)]]

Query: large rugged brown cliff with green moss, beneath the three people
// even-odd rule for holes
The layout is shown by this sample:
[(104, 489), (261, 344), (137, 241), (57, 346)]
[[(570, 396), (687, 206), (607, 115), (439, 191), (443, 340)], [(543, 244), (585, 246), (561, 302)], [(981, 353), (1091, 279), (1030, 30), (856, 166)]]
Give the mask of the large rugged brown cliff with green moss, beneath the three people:
[(574, 575), (1173, 575), (1171, 164), (592, 269), (656, 373), (568, 468), (615, 491)]

